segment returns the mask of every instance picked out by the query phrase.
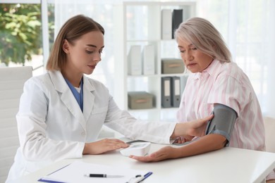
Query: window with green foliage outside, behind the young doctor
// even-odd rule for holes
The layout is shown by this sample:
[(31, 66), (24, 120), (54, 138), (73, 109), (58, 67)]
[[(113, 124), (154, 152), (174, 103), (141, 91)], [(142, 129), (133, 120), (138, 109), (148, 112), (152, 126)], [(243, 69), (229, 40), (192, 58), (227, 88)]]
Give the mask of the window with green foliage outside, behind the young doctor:
[[(1, 3), (1, 1), (0, 1)], [(47, 4), (49, 46), (54, 42), (54, 4)], [(0, 64), (15, 67), (32, 65), (33, 75), (44, 72), (42, 4), (8, 1), (0, 4)]]

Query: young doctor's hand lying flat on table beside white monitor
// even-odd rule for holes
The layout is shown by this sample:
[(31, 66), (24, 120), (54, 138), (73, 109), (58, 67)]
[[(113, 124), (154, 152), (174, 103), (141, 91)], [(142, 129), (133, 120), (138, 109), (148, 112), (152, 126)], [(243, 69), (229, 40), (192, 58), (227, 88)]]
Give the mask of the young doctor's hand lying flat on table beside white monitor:
[(126, 148), (128, 146), (128, 144), (119, 139), (102, 139), (91, 143), (85, 143), (83, 154), (100, 154)]

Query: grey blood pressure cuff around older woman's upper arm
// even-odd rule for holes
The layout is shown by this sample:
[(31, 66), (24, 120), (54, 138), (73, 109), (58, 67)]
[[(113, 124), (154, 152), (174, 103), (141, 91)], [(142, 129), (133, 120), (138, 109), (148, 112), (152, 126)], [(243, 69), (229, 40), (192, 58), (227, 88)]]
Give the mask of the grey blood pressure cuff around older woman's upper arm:
[(238, 115), (232, 108), (220, 103), (215, 104), (212, 113), (214, 118), (209, 120), (206, 134), (221, 134), (226, 137), (228, 141), (226, 146), (228, 146)]

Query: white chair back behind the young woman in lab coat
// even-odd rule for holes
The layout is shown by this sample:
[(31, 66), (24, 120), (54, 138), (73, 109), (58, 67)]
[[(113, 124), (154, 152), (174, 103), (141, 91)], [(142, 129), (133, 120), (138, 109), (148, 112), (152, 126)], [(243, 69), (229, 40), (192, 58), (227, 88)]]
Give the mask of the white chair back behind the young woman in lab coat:
[(23, 85), (32, 67), (0, 68), (0, 182), (5, 182), (20, 146), (16, 123)]

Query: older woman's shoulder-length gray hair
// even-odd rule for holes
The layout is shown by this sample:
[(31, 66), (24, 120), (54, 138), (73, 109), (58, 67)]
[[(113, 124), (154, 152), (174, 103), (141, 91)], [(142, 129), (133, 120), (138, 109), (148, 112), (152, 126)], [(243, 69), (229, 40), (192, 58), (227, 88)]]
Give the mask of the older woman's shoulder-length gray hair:
[(190, 18), (175, 31), (176, 41), (186, 40), (197, 49), (221, 62), (231, 62), (231, 53), (221, 33), (204, 18)]

